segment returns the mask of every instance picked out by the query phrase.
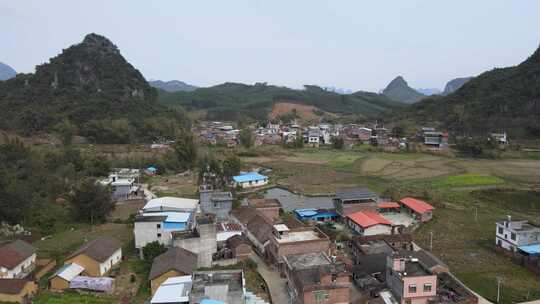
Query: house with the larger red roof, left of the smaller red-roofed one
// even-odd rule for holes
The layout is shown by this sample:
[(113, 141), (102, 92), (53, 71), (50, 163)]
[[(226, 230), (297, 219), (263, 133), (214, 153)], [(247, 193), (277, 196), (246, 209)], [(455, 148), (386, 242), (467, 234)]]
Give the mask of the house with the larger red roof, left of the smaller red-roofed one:
[(359, 211), (347, 215), (347, 225), (360, 235), (390, 234), (392, 223), (373, 211)]

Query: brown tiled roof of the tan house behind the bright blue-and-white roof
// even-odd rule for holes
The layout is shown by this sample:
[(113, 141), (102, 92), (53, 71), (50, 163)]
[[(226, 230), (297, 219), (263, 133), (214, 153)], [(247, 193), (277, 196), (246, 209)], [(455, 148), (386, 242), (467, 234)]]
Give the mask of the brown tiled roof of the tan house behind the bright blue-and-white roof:
[(184, 248), (173, 247), (154, 259), (148, 279), (153, 280), (172, 269), (193, 273), (197, 269), (197, 255)]

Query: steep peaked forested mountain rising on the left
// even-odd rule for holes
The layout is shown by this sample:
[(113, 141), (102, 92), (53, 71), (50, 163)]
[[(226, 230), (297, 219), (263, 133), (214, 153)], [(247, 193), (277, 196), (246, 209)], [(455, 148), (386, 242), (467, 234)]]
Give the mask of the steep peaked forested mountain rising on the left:
[(68, 119), (77, 126), (103, 119), (152, 116), (157, 92), (107, 38), (84, 40), (36, 67), (0, 82), (0, 129), (33, 134)]

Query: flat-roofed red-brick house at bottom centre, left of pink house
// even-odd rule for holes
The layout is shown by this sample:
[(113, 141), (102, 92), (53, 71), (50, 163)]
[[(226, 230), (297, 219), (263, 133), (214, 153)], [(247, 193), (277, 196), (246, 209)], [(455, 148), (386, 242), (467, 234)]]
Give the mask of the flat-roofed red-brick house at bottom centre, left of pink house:
[(324, 252), (283, 257), (291, 303), (349, 303), (350, 274)]

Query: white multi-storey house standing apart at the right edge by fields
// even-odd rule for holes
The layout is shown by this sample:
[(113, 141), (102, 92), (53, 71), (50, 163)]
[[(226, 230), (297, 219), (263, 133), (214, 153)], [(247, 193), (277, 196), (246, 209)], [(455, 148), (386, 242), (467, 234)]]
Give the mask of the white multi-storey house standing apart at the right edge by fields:
[(540, 226), (528, 221), (513, 221), (508, 216), (505, 221), (496, 223), (495, 243), (514, 252), (523, 246), (540, 245)]

